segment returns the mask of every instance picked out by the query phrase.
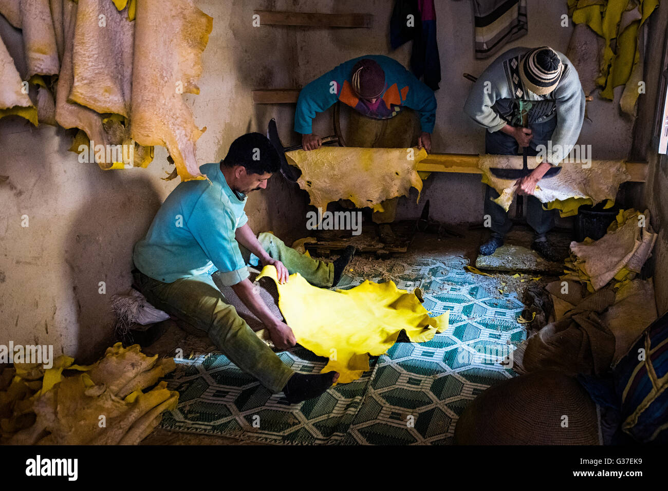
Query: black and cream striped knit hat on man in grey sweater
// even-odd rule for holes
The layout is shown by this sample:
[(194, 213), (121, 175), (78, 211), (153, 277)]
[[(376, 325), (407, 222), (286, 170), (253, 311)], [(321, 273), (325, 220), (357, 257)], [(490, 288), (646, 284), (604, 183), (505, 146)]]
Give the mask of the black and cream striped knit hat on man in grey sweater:
[(556, 88), (564, 69), (559, 55), (547, 46), (527, 51), (520, 65), (524, 88), (538, 96), (550, 94)]

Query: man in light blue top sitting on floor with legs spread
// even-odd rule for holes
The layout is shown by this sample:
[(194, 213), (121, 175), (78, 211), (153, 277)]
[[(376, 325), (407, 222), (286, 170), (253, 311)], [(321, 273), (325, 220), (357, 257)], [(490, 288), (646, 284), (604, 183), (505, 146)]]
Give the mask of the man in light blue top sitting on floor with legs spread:
[(295, 272), (318, 287), (341, 279), (353, 248), (334, 263), (315, 261), (272, 234), (256, 238), (246, 223), (246, 194), (266, 188), (279, 167), (279, 154), (265, 136), (249, 133), (234, 140), (224, 160), (201, 167), (208, 180), (182, 182), (167, 196), (146, 237), (135, 244), (133, 274), (152, 305), (206, 331), (240, 369), (295, 403), (317, 397), (339, 374), (302, 375), (287, 367), (226, 302), (211, 277), (232, 287), (279, 349), (294, 346), (295, 335), (271, 314), (248, 279), (251, 255), (263, 266), (274, 265), (281, 283)]

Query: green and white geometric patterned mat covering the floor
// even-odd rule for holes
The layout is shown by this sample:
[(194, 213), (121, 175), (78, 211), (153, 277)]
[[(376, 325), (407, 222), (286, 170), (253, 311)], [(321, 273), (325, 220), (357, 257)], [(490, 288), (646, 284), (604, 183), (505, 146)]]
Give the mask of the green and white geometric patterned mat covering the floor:
[[(166, 380), (180, 399), (162, 428), (276, 444), (450, 444), (468, 402), (514, 376), (497, 361), (525, 336), (516, 322), (522, 303), (514, 294), (492, 297), (467, 264), (459, 257), (420, 259), (397, 275), (397, 287), (422, 289), (430, 315), (450, 311), (448, 329), (426, 343), (396, 343), (371, 359), (361, 379), (318, 399), (291, 405), (220, 353), (176, 359)], [(327, 363), (302, 347), (279, 356), (301, 373)]]

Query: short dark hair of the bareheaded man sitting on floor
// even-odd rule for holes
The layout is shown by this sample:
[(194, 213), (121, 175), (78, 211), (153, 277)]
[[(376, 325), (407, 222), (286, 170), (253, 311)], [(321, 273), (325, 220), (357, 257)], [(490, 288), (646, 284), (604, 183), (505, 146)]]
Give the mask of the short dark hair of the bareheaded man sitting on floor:
[(281, 168), (279, 152), (261, 133), (246, 133), (234, 140), (220, 163), (226, 167), (243, 166), (248, 174), (273, 174)]

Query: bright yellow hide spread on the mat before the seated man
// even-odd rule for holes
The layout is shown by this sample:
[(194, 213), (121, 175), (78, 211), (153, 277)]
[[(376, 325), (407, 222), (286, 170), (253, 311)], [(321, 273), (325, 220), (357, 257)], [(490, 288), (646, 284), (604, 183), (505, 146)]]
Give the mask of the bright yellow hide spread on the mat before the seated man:
[(359, 379), (369, 369), (369, 355), (385, 353), (401, 331), (422, 343), (448, 327), (448, 313), (429, 317), (415, 292), (399, 290), (392, 281), (331, 291), (313, 287), (299, 273), (281, 285), (273, 266), (256, 281), (262, 277), (276, 283), (281, 313), (297, 343), (328, 357), (322, 372), (338, 371), (338, 383)]

